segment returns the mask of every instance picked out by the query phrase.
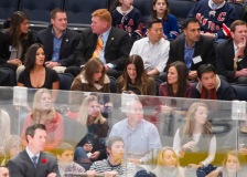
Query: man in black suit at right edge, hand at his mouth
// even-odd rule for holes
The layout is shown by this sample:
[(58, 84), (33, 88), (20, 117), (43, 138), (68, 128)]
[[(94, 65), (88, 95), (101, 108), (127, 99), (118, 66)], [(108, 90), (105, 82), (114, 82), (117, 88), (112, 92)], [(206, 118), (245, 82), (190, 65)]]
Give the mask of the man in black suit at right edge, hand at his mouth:
[(217, 73), (228, 82), (247, 84), (246, 22), (236, 20), (230, 24), (232, 39), (218, 44), (216, 51)]

